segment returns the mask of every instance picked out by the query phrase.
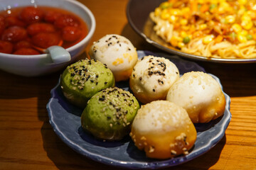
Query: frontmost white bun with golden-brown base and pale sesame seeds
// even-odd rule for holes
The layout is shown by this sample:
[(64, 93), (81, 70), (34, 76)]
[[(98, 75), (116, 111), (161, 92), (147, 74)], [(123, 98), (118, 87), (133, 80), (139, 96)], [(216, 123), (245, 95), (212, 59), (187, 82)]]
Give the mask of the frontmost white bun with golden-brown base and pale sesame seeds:
[(168, 159), (188, 154), (196, 142), (196, 128), (181, 106), (152, 101), (139, 108), (130, 136), (146, 157)]

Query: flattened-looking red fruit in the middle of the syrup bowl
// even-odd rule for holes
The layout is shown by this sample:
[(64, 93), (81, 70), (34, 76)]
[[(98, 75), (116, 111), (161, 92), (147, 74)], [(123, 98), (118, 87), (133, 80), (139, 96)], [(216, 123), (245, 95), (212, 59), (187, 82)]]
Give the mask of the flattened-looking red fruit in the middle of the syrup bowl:
[(36, 35), (38, 33), (53, 33), (55, 28), (53, 24), (50, 23), (32, 23), (27, 28), (29, 35)]

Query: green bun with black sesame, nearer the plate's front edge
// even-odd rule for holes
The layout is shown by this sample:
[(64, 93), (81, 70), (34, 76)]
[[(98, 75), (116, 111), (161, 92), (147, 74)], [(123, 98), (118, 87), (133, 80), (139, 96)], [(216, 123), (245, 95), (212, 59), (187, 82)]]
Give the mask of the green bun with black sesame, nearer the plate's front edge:
[(102, 140), (121, 140), (131, 130), (139, 109), (137, 99), (117, 87), (92, 96), (82, 112), (82, 129)]

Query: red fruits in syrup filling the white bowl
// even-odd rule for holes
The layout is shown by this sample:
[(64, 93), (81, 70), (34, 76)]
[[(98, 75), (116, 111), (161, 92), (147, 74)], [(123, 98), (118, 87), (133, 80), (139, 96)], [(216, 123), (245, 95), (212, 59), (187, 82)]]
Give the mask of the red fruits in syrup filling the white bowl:
[(60, 45), (65, 48), (85, 38), (85, 23), (59, 8), (26, 6), (0, 13), (0, 52), (39, 55)]

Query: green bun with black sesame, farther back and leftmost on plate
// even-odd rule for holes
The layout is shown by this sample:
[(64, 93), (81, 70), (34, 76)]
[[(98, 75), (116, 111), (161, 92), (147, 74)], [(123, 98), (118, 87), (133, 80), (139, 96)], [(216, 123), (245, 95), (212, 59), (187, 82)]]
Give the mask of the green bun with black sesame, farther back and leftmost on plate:
[(98, 91), (114, 86), (114, 75), (102, 62), (80, 60), (64, 70), (60, 86), (70, 103), (85, 108), (87, 101)]

